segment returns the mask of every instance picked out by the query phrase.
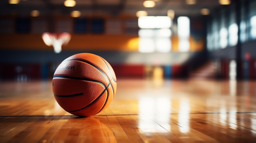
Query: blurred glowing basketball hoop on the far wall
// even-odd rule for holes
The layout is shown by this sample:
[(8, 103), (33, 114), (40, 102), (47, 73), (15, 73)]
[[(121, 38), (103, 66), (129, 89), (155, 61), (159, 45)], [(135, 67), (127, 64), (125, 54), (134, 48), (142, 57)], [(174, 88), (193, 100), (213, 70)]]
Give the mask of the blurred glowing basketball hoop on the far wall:
[(61, 52), (61, 46), (67, 45), (70, 42), (70, 33), (49, 33), (45, 32), (42, 34), (43, 41), (47, 46), (53, 46), (55, 53)]

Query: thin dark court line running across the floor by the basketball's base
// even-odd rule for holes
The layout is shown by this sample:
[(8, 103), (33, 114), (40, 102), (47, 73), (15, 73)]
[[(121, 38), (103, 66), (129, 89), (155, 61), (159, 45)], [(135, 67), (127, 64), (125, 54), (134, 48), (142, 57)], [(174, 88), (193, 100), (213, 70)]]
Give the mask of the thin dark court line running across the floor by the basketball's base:
[[(169, 115), (178, 115), (178, 114), (248, 114), (256, 112), (198, 112), (198, 113), (171, 113)], [(105, 115), (93, 115), (97, 116), (132, 116), (139, 114), (105, 114)], [(143, 114), (142, 114), (143, 115)], [(0, 117), (79, 117), (76, 115), (0, 115)]]

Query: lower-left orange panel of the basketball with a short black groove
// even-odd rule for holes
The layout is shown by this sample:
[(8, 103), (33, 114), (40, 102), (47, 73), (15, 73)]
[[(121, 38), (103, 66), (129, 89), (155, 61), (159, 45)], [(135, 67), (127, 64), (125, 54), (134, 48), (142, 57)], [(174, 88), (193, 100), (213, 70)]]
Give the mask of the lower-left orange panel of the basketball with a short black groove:
[[(61, 97), (54, 97), (64, 110), (78, 110), (84, 108), (96, 100), (99, 96), (102, 96), (102, 94), (107, 94), (107, 92), (105, 92), (106, 87), (97, 82), (54, 78), (53, 83), (54, 94), (62, 95)], [(69, 86), (70, 83), (73, 83), (72, 86)], [(69, 96), (77, 93), (83, 94), (72, 97)]]

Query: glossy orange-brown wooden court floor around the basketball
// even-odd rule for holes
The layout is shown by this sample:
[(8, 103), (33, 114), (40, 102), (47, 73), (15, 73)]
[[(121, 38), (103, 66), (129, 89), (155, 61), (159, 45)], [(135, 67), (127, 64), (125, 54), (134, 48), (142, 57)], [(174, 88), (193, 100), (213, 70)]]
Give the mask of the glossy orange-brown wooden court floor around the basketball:
[(118, 79), (111, 105), (76, 117), (51, 81), (0, 82), (0, 143), (256, 143), (256, 82)]

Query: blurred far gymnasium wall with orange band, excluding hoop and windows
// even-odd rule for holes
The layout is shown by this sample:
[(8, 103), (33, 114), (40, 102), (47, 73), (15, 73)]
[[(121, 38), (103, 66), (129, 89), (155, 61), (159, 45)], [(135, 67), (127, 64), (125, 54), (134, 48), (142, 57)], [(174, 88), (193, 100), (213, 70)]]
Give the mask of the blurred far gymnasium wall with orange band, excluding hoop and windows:
[[(184, 77), (187, 74), (184, 75), (183, 70), (188, 68), (184, 68), (183, 64), (205, 49), (204, 18), (191, 18), (189, 52), (179, 51), (177, 29), (172, 28), (171, 52), (168, 53), (139, 53), (137, 18), (103, 16), (97, 17), (100, 22), (94, 25), (93, 19), (2, 17), (0, 80), (16, 79), (17, 75), (24, 75), (27, 79), (51, 78), (63, 59), (84, 52), (105, 58), (113, 66), (117, 77), (143, 78), (152, 72), (147, 69), (158, 66), (164, 70), (165, 77)], [(81, 21), (85, 22), (85, 29), (81, 28)], [(80, 29), (77, 28), (79, 24)], [(173, 20), (173, 25), (177, 28), (177, 19)], [(71, 33), (72, 38), (67, 46), (62, 47), (61, 53), (54, 53), (52, 46), (44, 44), (41, 35), (49, 30)]]

